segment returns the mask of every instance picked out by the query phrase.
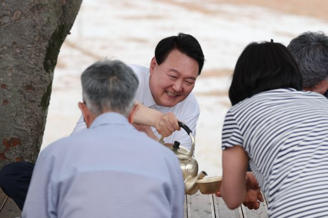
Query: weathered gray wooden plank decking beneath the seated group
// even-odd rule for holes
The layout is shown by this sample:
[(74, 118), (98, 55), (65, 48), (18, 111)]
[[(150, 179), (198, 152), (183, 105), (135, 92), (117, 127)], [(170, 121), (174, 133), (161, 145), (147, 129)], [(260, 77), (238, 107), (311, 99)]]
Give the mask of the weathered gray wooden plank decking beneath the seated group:
[[(193, 195), (186, 195), (185, 218), (218, 218), (218, 217), (247, 217), (267, 218), (267, 203), (261, 203), (258, 210), (249, 210), (243, 205), (237, 209), (230, 210), (224, 204), (222, 198), (214, 194), (201, 194), (199, 191)], [(20, 216), (20, 210), (12, 199), (0, 189), (0, 217), (14, 218)]]

